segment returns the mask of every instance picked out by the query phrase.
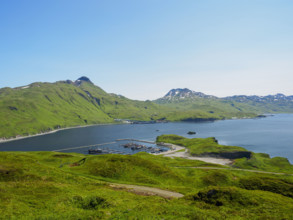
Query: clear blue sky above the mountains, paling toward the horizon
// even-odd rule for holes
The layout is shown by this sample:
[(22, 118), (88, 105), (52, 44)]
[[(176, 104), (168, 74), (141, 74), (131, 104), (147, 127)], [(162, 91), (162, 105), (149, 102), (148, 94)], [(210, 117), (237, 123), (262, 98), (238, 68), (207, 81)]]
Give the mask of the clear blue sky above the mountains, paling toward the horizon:
[(292, 0), (3, 0), (0, 87), (88, 76), (156, 99), (293, 95)]

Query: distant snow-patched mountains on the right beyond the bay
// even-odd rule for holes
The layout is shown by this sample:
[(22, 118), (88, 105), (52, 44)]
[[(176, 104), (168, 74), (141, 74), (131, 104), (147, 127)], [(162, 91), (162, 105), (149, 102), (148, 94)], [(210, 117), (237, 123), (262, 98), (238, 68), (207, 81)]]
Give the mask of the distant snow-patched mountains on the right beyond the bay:
[[(217, 109), (225, 112), (293, 113), (293, 96), (231, 96), (218, 98), (187, 88), (172, 89), (155, 103), (184, 109)], [(213, 110), (212, 110), (213, 111)]]

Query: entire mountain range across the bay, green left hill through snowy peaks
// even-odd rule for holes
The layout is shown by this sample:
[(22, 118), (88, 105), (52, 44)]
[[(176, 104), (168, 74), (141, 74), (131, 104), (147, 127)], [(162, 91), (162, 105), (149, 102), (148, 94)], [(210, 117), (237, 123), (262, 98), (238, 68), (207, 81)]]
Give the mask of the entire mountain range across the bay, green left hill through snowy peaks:
[(256, 102), (237, 97), (223, 99), (185, 88), (170, 90), (166, 97), (154, 101), (131, 100), (107, 93), (85, 76), (75, 81), (5, 87), (0, 89), (0, 138), (114, 123), (115, 119), (204, 121), (293, 112), (293, 102), (284, 101), (283, 95), (278, 95), (281, 98), (278, 102)]

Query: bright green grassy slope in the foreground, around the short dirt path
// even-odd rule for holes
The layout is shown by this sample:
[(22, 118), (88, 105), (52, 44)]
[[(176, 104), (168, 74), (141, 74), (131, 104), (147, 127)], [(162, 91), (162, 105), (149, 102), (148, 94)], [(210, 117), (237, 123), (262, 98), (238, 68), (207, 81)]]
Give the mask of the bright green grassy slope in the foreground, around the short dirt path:
[[(72, 166), (86, 158), (85, 163)], [(77, 163), (76, 163), (77, 164)], [(133, 156), (0, 153), (1, 219), (292, 219), (292, 176), (175, 167), (204, 162)], [(212, 166), (212, 165), (211, 165)], [(266, 180), (264, 183), (263, 179)], [(181, 199), (114, 190), (106, 181), (181, 192)]]

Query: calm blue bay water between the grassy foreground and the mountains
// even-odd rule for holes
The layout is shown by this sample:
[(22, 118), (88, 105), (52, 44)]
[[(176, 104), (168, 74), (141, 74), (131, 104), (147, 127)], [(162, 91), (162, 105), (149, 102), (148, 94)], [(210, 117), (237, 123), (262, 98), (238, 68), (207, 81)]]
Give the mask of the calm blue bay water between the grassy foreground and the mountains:
[[(195, 131), (196, 135), (188, 135)], [(223, 120), (197, 123), (158, 123), (98, 125), (58, 131), (0, 144), (0, 151), (52, 151), (115, 142), (116, 139), (133, 138), (154, 141), (161, 134), (185, 137), (216, 137), (220, 144), (245, 147), (254, 152), (268, 153), (272, 157), (286, 157), (293, 163), (293, 114), (277, 114), (260, 119)], [(122, 142), (102, 146), (125, 150)], [(88, 148), (62, 150), (86, 153)]]

